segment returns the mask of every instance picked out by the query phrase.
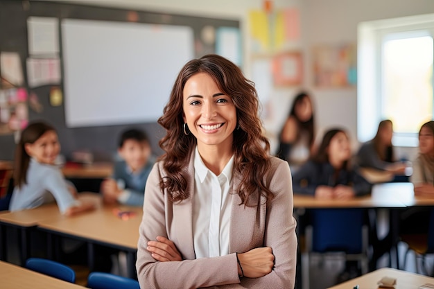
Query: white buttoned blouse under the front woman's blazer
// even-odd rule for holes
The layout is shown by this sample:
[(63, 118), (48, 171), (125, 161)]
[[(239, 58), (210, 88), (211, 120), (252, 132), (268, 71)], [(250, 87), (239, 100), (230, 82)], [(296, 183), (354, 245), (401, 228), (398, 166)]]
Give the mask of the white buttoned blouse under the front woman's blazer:
[(229, 254), (229, 220), (232, 198), (229, 194), (234, 156), (220, 175), (205, 166), (198, 148), (194, 156), (193, 239), (196, 258)]

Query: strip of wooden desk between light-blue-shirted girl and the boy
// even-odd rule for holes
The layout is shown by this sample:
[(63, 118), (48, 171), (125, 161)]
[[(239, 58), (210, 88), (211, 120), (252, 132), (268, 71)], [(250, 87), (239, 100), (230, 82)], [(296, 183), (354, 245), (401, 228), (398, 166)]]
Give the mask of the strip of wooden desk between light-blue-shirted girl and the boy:
[(111, 163), (95, 163), (90, 165), (65, 165), (62, 168), (62, 173), (69, 179), (104, 179), (110, 177), (113, 171)]

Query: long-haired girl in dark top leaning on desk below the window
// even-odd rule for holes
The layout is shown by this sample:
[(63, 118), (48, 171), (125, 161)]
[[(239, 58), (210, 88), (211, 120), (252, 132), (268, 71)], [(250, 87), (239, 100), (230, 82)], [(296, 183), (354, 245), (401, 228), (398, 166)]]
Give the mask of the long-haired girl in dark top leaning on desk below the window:
[(374, 139), (363, 143), (358, 150), (356, 155), (358, 166), (385, 170), (394, 175), (404, 175), (406, 165), (394, 159), (392, 135), (392, 121), (381, 121)]

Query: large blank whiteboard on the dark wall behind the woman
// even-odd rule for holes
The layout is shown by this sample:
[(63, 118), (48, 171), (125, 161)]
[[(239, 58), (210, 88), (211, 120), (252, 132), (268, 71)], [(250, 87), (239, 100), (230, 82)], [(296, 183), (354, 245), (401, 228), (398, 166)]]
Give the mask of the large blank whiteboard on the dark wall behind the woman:
[(67, 127), (155, 122), (194, 55), (187, 26), (63, 19)]

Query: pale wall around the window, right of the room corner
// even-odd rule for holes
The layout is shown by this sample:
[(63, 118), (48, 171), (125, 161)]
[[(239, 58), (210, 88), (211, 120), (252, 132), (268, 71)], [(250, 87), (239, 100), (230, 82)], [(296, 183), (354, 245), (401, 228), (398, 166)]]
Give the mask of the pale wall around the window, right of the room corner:
[[(431, 0), (303, 0), (302, 35), (304, 51), (315, 44), (340, 44), (357, 42), (357, 25), (371, 21), (434, 12)], [(306, 53), (306, 87), (315, 96), (317, 123), (320, 130), (342, 124), (356, 141), (357, 91), (354, 89), (315, 89), (311, 84), (313, 75), (311, 55)], [(417, 153), (416, 148), (398, 148), (399, 157)]]

